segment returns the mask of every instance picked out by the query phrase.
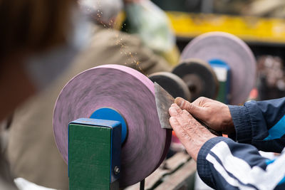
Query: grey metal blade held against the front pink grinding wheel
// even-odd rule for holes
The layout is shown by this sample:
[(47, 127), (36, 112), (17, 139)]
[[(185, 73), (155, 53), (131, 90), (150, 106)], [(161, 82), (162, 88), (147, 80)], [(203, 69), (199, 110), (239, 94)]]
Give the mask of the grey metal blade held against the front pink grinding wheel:
[(174, 97), (167, 93), (159, 84), (155, 83), (155, 103), (158, 117), (160, 118), (160, 125), (163, 129), (172, 130), (168, 109), (174, 103), (174, 100)]

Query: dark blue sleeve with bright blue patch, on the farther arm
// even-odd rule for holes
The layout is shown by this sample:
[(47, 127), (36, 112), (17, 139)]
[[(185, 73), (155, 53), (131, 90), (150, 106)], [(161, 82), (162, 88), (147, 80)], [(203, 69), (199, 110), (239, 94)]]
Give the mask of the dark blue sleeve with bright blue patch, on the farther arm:
[(285, 97), (229, 105), (229, 110), (236, 130), (229, 137), (235, 141), (266, 152), (281, 152), (285, 147)]

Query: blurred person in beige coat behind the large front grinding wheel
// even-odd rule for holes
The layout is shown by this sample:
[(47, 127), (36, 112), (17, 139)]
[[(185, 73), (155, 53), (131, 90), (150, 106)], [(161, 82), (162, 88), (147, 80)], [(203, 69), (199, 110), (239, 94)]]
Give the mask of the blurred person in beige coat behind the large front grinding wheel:
[(92, 35), (88, 46), (60, 78), (14, 112), (7, 147), (15, 177), (54, 189), (68, 189), (68, 166), (56, 148), (52, 124), (56, 98), (68, 80), (103, 64), (126, 65), (144, 74), (170, 70), (166, 61), (146, 48), (138, 36), (113, 29), (115, 18), (123, 9), (122, 1), (78, 3), (90, 20)]

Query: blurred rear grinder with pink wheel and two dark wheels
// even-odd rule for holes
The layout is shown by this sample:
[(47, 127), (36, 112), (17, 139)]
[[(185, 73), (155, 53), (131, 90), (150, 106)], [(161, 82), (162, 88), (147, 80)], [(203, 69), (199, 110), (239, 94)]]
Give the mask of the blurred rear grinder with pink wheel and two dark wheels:
[(180, 96), (190, 102), (204, 96), (240, 105), (254, 87), (256, 75), (256, 60), (244, 41), (229, 33), (210, 32), (188, 43), (172, 74), (154, 73), (150, 80), (159, 83), (173, 97)]

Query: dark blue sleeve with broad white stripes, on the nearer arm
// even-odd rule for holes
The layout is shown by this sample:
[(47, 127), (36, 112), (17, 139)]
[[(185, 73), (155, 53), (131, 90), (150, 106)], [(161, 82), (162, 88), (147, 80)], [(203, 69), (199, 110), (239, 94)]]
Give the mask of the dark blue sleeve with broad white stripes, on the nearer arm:
[(251, 144), (209, 139), (197, 157), (201, 179), (214, 189), (285, 189), (285, 153), (269, 160)]

